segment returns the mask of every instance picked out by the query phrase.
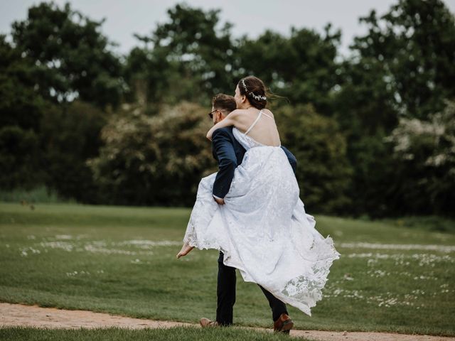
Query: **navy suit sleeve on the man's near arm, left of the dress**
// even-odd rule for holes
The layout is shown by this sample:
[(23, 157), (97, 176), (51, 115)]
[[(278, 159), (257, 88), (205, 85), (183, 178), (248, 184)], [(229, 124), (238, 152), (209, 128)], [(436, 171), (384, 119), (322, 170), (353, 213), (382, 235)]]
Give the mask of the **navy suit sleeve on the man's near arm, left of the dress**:
[(222, 129), (215, 130), (212, 136), (213, 154), (218, 160), (218, 173), (213, 183), (213, 195), (223, 198), (228, 194), (234, 171), (237, 167), (237, 157), (230, 136)]

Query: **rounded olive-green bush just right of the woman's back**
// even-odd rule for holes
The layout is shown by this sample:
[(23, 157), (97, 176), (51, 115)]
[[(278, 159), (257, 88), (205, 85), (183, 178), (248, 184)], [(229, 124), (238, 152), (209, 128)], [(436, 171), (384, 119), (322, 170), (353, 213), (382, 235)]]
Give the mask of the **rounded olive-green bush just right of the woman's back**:
[(352, 171), (336, 121), (317, 114), (311, 104), (282, 107), (275, 117), (282, 144), (297, 158), (296, 177), (305, 205), (312, 212), (346, 213)]

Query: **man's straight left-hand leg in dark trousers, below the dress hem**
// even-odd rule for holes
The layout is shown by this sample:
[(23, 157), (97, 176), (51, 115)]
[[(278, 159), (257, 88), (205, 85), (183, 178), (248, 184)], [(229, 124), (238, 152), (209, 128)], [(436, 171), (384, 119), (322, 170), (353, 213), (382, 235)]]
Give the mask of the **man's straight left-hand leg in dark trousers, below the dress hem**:
[(232, 313), (235, 303), (235, 268), (223, 264), (224, 254), (218, 257), (218, 285), (216, 320), (220, 325), (232, 325)]

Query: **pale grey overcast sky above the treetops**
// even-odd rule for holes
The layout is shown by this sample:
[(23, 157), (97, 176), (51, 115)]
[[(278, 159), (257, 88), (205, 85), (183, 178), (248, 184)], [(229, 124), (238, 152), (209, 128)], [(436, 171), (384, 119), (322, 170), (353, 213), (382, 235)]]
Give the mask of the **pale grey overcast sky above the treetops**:
[[(27, 9), (41, 1), (0, 0), (0, 33), (9, 33), (11, 23), (23, 20)], [(55, 0), (59, 5), (70, 2), (92, 19), (106, 18), (102, 31), (109, 40), (119, 44), (118, 53), (127, 53), (139, 42), (133, 33), (149, 34), (156, 23), (168, 20), (167, 9), (183, 1), (164, 0)], [(353, 36), (365, 33), (365, 26), (358, 23), (371, 9), (385, 13), (397, 0), (187, 0), (186, 4), (204, 10), (221, 9), (221, 22), (234, 25), (233, 36), (247, 34), (257, 38), (267, 28), (289, 35), (291, 26), (314, 28), (323, 32), (326, 23), (333, 28), (341, 28), (341, 53), (348, 54), (348, 45)], [(455, 13), (455, 0), (445, 0), (452, 13)]]

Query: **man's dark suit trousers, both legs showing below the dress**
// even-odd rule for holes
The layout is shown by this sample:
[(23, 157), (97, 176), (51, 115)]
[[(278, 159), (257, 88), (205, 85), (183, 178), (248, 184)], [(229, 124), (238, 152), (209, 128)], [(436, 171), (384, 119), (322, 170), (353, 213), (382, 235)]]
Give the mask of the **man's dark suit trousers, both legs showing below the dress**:
[[(216, 320), (220, 325), (232, 325), (232, 314), (235, 304), (235, 268), (223, 264), (223, 259), (224, 254), (220, 251), (220, 256), (218, 257)], [(262, 289), (267, 301), (269, 301), (272, 309), (272, 320), (278, 320), (282, 313), (287, 314), (286, 305), (282, 301), (279, 301), (278, 298), (262, 288), (262, 286), (259, 286), (259, 288)]]

